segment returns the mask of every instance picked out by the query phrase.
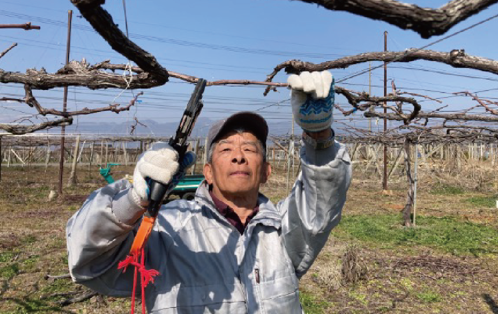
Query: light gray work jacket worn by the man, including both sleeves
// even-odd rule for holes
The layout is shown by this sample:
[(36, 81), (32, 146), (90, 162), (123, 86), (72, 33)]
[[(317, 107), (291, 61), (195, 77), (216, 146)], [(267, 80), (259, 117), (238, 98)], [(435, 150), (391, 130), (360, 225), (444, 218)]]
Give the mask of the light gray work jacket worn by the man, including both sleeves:
[[(160, 273), (145, 288), (150, 313), (302, 312), (298, 279), (341, 219), (351, 162), (337, 142), (300, 155), (290, 195), (275, 207), (260, 194), (242, 235), (216, 210), (205, 182), (194, 200), (161, 207), (145, 248), (146, 268)], [(105, 295), (131, 295), (133, 267), (117, 268), (139, 225), (121, 210), (135, 206), (129, 191), (119, 180), (93, 192), (67, 223), (73, 281)]]

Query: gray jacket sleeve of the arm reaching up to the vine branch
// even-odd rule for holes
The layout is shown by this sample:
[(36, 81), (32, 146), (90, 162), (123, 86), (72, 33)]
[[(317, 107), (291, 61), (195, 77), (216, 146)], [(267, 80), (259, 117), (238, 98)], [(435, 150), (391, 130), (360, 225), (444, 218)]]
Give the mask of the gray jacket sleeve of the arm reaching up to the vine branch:
[(282, 237), (298, 278), (303, 276), (341, 220), (351, 182), (351, 159), (343, 144), (300, 151), (302, 171), (290, 195), (277, 204)]

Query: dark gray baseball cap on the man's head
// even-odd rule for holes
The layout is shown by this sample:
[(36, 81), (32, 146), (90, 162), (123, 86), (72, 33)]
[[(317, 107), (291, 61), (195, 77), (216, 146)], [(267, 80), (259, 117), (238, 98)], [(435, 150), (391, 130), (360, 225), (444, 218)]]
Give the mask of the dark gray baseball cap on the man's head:
[(208, 148), (211, 148), (214, 142), (230, 131), (244, 129), (256, 137), (266, 148), (266, 139), (268, 138), (268, 125), (263, 117), (250, 112), (242, 111), (231, 115), (230, 117), (216, 121), (208, 132)]

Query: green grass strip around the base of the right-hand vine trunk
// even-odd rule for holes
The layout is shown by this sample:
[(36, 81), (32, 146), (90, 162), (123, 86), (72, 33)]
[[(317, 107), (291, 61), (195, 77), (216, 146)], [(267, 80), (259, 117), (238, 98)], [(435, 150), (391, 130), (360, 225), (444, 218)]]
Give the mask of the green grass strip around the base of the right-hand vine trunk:
[(392, 246), (422, 245), (453, 254), (498, 254), (498, 230), (455, 217), (418, 216), (417, 227), (401, 226), (400, 215), (344, 216), (334, 231), (340, 238)]

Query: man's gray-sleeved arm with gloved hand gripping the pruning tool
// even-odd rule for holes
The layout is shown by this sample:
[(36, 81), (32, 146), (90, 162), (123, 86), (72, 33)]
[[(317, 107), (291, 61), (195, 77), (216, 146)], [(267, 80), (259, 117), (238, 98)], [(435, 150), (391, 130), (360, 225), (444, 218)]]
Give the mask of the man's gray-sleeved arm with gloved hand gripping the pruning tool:
[[(133, 230), (138, 227), (147, 205), (145, 178), (168, 184), (175, 173), (183, 173), (182, 169), (188, 166), (182, 162), (177, 172), (177, 159), (177, 152), (168, 144), (155, 143), (137, 162), (133, 186), (127, 180), (119, 180), (93, 192), (69, 219), (66, 226), (68, 262), (75, 282), (106, 295), (131, 294), (133, 267), (123, 274), (118, 263), (129, 253)], [(189, 154), (184, 159), (192, 162), (195, 155)]]

